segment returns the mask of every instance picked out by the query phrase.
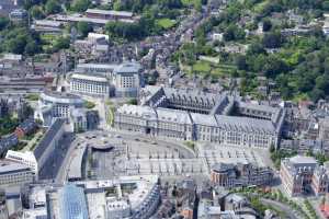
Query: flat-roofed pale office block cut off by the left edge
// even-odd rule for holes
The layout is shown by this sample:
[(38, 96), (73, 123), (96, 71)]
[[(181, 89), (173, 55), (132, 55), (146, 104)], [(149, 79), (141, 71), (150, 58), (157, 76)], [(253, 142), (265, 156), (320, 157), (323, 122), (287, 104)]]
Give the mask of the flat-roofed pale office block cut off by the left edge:
[(0, 187), (22, 186), (33, 183), (35, 180), (34, 171), (27, 165), (2, 160), (0, 162)]

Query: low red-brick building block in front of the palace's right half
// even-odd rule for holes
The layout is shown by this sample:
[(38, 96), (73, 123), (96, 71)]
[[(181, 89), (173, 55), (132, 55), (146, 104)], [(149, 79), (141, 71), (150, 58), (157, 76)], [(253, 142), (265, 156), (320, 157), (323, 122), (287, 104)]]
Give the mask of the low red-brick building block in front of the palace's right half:
[(211, 170), (211, 182), (225, 188), (266, 185), (272, 180), (273, 172), (270, 168), (256, 166), (252, 163), (220, 162)]

